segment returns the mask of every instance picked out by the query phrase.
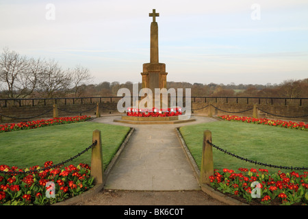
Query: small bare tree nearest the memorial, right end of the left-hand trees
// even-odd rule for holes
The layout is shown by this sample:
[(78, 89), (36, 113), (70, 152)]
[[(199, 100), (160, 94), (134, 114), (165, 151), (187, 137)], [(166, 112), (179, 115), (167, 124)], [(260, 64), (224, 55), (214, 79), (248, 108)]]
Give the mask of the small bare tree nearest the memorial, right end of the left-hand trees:
[(86, 83), (92, 81), (93, 77), (90, 75), (88, 68), (77, 65), (72, 70), (68, 70), (70, 74), (70, 83), (72, 83), (73, 91), (76, 97), (84, 94)]

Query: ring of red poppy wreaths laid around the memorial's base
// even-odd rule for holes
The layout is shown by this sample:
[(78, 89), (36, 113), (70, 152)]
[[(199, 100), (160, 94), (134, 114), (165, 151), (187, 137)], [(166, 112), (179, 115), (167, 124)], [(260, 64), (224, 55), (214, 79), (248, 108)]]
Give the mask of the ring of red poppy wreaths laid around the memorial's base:
[(140, 116), (140, 117), (166, 117), (166, 116), (179, 116), (182, 114), (181, 107), (160, 109), (153, 107), (153, 109), (138, 109), (127, 108), (127, 116)]

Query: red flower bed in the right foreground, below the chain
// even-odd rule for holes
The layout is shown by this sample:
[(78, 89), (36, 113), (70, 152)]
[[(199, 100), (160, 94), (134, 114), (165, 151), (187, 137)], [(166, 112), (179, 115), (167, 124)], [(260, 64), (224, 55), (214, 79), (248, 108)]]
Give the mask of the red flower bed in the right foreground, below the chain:
[[(240, 172), (224, 168), (222, 172), (214, 170), (210, 176), (210, 185), (224, 194), (242, 198), (246, 203), (261, 205), (307, 205), (308, 172), (298, 175), (296, 172), (268, 174), (268, 170), (239, 168)], [(257, 183), (255, 183), (257, 182)], [(258, 195), (259, 194), (259, 195)]]

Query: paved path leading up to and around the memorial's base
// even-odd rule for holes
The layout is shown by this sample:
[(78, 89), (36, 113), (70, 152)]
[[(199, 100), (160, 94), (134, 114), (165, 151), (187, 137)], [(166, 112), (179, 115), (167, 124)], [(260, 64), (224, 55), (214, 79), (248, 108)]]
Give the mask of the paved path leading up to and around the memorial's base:
[(192, 123), (177, 125), (131, 125), (114, 123), (120, 116), (96, 118), (97, 123), (134, 127), (110, 172), (105, 189), (110, 190), (200, 190), (198, 181), (175, 132), (176, 127), (208, 123), (214, 118), (196, 116)]

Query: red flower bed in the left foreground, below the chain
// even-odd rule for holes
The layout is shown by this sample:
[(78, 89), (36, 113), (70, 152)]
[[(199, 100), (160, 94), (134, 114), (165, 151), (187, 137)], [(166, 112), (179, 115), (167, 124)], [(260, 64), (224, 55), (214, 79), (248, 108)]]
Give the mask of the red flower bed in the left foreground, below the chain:
[(7, 174), (0, 172), (0, 205), (51, 205), (77, 196), (93, 187), (88, 164), (49, 168), (53, 162), (45, 162), (29, 169), (0, 166), (0, 171), (33, 173)]

